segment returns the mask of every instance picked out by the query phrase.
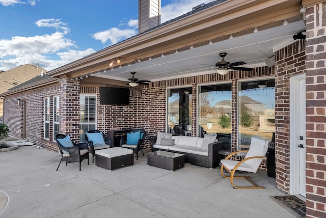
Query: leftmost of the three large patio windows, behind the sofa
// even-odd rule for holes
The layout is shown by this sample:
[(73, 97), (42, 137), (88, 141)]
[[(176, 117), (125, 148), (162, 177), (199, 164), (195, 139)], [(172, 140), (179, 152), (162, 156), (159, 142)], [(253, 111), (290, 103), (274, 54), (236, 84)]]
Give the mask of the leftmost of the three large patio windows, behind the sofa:
[(167, 90), (167, 129), (173, 135), (192, 132), (192, 90), (192, 87)]

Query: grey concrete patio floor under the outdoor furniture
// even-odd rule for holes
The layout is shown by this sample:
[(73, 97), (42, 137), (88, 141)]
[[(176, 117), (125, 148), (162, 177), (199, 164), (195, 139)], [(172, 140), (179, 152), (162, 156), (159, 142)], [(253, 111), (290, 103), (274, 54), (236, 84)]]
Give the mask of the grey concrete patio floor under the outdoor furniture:
[(56, 171), (58, 152), (34, 146), (0, 152), (0, 193), (8, 195), (0, 217), (295, 217), (269, 198), (283, 194), (265, 171), (252, 174), (265, 189), (233, 189), (220, 167), (171, 172), (147, 166), (148, 152), (111, 172), (91, 155), (82, 171), (78, 162)]

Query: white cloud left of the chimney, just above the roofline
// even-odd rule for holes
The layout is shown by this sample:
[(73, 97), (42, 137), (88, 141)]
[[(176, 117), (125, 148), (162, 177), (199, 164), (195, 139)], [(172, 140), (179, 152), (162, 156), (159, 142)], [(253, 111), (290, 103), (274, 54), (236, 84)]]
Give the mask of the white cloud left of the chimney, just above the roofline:
[(119, 28), (111, 28), (92, 35), (96, 40), (100, 40), (103, 44), (110, 40), (110, 45), (116, 44), (124, 39), (136, 35), (138, 32), (134, 29), (121, 30)]

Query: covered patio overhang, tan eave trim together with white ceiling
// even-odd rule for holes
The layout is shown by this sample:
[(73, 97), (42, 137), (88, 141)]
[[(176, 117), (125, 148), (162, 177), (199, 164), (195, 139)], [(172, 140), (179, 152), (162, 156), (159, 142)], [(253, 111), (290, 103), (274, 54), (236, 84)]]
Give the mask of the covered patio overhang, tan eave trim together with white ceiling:
[[(301, 4), (300, 0), (226, 1), (163, 23), (48, 75), (82, 77), (79, 80), (84, 85), (126, 87), (132, 71), (138, 79), (151, 81), (215, 73), (212, 68), (221, 61), (220, 52), (227, 52), (225, 61), (247, 63), (241, 67), (266, 66), (275, 51), (306, 30), (299, 13)], [(283, 25), (284, 19), (288, 25)], [(253, 33), (255, 27), (259, 32)], [(118, 57), (121, 66), (110, 68), (108, 64)]]

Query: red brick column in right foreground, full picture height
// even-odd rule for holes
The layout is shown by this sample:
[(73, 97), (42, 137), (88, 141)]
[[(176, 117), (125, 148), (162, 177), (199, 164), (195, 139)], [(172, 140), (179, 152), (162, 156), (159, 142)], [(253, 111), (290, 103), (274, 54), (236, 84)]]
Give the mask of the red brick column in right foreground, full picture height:
[(307, 217), (326, 217), (326, 3), (307, 8)]

